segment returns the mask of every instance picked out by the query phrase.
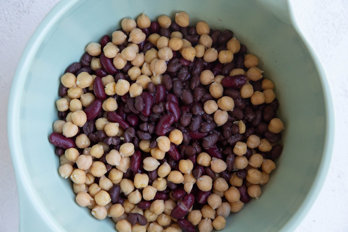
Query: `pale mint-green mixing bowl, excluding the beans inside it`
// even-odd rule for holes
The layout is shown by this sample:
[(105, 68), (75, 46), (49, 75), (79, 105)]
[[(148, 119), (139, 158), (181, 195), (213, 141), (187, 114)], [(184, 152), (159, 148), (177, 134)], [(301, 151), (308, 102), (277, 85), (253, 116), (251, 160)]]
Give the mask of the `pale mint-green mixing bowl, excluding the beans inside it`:
[(79, 61), (85, 46), (120, 27), (120, 19), (142, 12), (151, 19), (184, 10), (191, 24), (231, 29), (258, 55), (280, 102), (283, 154), (277, 169), (224, 231), (291, 231), (314, 202), (333, 142), (329, 86), (318, 59), (293, 23), (285, 1), (63, 0), (46, 16), (26, 46), (11, 88), (9, 145), (16, 172), (21, 231), (114, 231), (110, 218), (95, 219), (75, 202), (69, 179), (48, 142), (57, 119), (55, 101), (65, 67)]

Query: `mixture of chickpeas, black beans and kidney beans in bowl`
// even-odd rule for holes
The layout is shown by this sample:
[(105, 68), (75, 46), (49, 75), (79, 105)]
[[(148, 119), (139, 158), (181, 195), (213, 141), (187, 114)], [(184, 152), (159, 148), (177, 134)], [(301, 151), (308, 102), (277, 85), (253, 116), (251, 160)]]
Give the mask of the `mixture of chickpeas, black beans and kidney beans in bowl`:
[(61, 77), (49, 141), (76, 202), (119, 232), (211, 232), (258, 199), (284, 129), (274, 84), (230, 30), (141, 14)]

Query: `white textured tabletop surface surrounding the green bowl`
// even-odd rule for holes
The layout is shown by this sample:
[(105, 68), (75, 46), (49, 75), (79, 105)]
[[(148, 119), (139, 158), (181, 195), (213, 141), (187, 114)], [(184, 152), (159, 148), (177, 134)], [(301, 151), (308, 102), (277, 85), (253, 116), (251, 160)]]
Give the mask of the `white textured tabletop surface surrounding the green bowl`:
[[(58, 0), (0, 0), (0, 231), (18, 231), (18, 200), (6, 131), (7, 100), (19, 57)], [(348, 231), (348, 1), (293, 0), (296, 21), (321, 60), (334, 99), (335, 144), (323, 189), (296, 232)]]

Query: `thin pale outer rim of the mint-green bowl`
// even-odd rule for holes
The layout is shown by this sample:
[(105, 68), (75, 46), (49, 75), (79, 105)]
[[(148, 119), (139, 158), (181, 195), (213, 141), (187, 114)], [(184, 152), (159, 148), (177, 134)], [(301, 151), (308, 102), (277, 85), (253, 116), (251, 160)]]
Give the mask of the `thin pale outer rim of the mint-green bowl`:
[[(22, 98), (22, 91), (18, 91), (23, 89), (25, 79), (27, 77), (27, 70), (29, 69), (29, 66), (31, 64), (32, 55), (35, 54), (41, 45), (42, 41), (45, 38), (45, 35), (50, 31), (53, 25), (61, 18), (63, 14), (67, 10), (69, 10), (71, 7), (78, 3), (83, 3), (86, 0), (61, 0), (58, 2), (52, 10), (49, 11), (49, 13), (45, 16), (45, 18), (42, 20), (42, 22), (38, 25), (38, 27), (35, 29), (34, 33), (32, 34), (31, 38), (27, 42), (27, 45), (25, 46), (25, 49), (23, 50), (23, 53), (21, 55), (21, 58), (17, 64), (16, 72), (13, 77), (13, 81), (11, 84), (10, 94), (9, 94), (9, 100), (8, 100), (8, 112), (7, 112), (7, 134), (8, 134), (8, 145), (9, 145), (9, 151), (11, 154), (11, 160), (13, 163), (15, 176), (16, 176), (16, 185), (18, 189), (18, 198), (23, 198), (22, 194), (23, 192), (19, 191), (22, 189), (22, 187), (25, 187), (26, 195), (28, 195), (28, 198), (32, 201), (30, 202), (32, 207), (35, 208), (34, 211), (40, 215), (43, 219), (45, 219), (45, 223), (49, 223), (50, 228), (54, 230), (65, 230), (63, 229), (58, 222), (52, 218), (49, 217), (49, 211), (44, 204), (41, 204), (41, 200), (35, 197), (35, 191), (32, 188), (32, 180), (29, 178), (29, 176), (26, 175), (27, 166), (24, 162), (22, 162), (21, 156), (23, 155), (23, 149), (21, 146), (21, 141), (19, 137), (16, 135), (20, 131), (19, 125), (17, 123), (17, 118), (13, 115), (17, 115), (19, 117), (20, 112), (20, 102)], [(290, 217), (290, 219), (283, 225), (283, 227), (280, 229), (280, 231), (293, 231), (302, 221), (304, 216), (308, 213), (309, 209), (313, 205), (315, 199), (317, 198), (323, 183), (326, 179), (327, 172), (330, 167), (331, 157), (332, 157), (332, 149), (333, 149), (333, 141), (334, 141), (334, 111), (333, 111), (333, 101), (332, 101), (332, 95), (330, 91), (329, 83), (326, 79), (326, 74), (323, 69), (323, 66), (316, 55), (313, 48), (310, 46), (307, 39), (304, 37), (304, 35), (301, 33), (299, 26), (296, 22), (296, 19), (294, 18), (293, 10), (291, 8), (291, 1), (285, 0), (285, 4), (287, 5), (286, 8), (290, 17), (291, 26), (296, 31), (296, 34), (299, 36), (299, 38), (302, 40), (304, 45), (307, 47), (310, 57), (313, 60), (313, 63), (316, 67), (316, 70), (318, 72), (319, 81), (321, 83), (321, 87), (323, 90), (323, 97), (325, 102), (325, 138), (324, 138), (324, 144), (323, 144), (323, 152), (322, 152), (322, 158), (319, 163), (319, 167), (317, 170), (317, 173), (315, 175), (314, 181), (311, 184), (311, 187), (306, 194), (306, 197), (304, 198), (303, 202), (300, 204), (298, 209), (295, 211), (295, 213)], [(16, 143), (14, 142), (16, 141)], [(20, 202), (20, 200), (19, 200)], [(20, 202), (23, 203), (24, 202)], [(23, 216), (21, 212), (23, 212), (23, 205), (19, 205), (19, 217)], [(19, 230), (22, 231), (23, 227), (23, 221), (25, 221), (23, 218), (20, 219), (20, 226)], [(21, 223), (22, 222), (22, 223)]]

